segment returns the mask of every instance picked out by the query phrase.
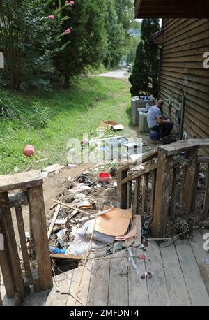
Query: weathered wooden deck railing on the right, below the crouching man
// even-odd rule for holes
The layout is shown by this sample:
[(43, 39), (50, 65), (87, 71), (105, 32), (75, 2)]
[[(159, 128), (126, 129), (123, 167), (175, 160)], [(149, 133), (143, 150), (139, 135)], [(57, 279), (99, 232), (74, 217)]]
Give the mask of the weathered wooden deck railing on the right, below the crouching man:
[[(158, 150), (146, 154), (142, 162), (157, 156), (157, 163), (145, 166), (145, 169), (137, 170), (129, 175), (130, 165), (118, 170), (118, 207), (130, 208), (132, 203), (132, 181), (134, 184), (133, 209), (139, 214), (139, 198), (142, 193), (141, 214), (146, 211), (148, 177), (151, 175), (150, 213), (153, 213), (153, 237), (163, 238), (167, 228), (168, 212), (171, 217), (176, 214), (176, 197), (179, 167), (176, 166), (173, 157), (185, 152), (183, 179), (181, 181), (180, 200), (183, 205), (183, 214), (189, 217), (195, 213), (196, 189), (199, 181), (200, 163), (209, 163), (209, 157), (199, 156), (199, 149), (208, 148), (209, 139), (189, 139), (158, 147)], [(141, 184), (141, 179), (143, 183)], [(140, 185), (142, 191), (140, 193)], [(171, 201), (169, 199), (171, 198)], [(203, 204), (203, 217), (208, 216), (209, 211), (209, 165), (206, 177), (206, 191)]]

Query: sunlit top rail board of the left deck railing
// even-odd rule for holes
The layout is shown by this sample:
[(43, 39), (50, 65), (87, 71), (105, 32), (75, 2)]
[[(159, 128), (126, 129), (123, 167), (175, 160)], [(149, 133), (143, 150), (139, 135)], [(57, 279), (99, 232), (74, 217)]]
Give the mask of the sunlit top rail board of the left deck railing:
[(0, 192), (29, 188), (43, 183), (40, 170), (15, 175), (0, 175)]

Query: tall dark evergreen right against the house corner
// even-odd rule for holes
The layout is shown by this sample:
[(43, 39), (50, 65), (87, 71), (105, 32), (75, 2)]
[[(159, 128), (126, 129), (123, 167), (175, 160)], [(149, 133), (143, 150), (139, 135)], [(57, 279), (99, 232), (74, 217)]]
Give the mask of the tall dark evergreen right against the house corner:
[(155, 98), (158, 94), (158, 76), (160, 67), (160, 48), (150, 42), (150, 37), (160, 30), (159, 19), (143, 19), (141, 23), (141, 39), (144, 41), (146, 52), (146, 64), (148, 65), (148, 76), (151, 80), (149, 90)]

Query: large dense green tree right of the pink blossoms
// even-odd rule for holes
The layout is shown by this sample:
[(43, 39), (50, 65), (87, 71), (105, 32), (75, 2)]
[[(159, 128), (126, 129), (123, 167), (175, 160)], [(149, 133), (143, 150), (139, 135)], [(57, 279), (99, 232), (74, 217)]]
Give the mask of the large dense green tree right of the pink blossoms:
[(54, 66), (64, 75), (66, 88), (70, 78), (84, 72), (87, 66), (97, 66), (106, 54), (103, 3), (77, 0), (74, 6), (68, 4), (62, 9), (61, 32), (65, 36), (61, 38), (62, 50), (54, 56)]

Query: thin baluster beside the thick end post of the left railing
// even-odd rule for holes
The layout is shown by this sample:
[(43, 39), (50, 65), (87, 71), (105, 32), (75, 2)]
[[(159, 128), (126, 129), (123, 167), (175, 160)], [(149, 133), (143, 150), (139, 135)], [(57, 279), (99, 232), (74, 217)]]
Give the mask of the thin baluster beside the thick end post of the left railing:
[(15, 212), (17, 217), (17, 228), (20, 236), (20, 245), (21, 245), (21, 251), (22, 251), (22, 259), (24, 262), (24, 270), (25, 270), (26, 277), (31, 277), (31, 267), (29, 262), (29, 252), (26, 246), (22, 207), (15, 208)]

